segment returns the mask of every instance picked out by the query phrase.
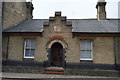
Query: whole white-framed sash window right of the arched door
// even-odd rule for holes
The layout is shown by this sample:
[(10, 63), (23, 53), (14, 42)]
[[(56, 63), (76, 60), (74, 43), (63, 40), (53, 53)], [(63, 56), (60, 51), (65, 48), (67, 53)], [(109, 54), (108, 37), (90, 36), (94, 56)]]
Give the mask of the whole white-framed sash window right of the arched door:
[(80, 40), (80, 60), (92, 60), (92, 40)]

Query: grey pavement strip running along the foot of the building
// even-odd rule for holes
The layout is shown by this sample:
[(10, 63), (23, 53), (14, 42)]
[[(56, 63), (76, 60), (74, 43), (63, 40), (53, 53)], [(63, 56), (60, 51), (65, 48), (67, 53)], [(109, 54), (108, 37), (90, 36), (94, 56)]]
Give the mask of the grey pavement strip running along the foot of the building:
[[(2, 73), (2, 79), (80, 79), (80, 80), (120, 80), (118, 77), (105, 77), (105, 76), (81, 76), (81, 75), (56, 75), (56, 74), (33, 74), (33, 73)], [(48, 80), (49, 80), (48, 79)]]

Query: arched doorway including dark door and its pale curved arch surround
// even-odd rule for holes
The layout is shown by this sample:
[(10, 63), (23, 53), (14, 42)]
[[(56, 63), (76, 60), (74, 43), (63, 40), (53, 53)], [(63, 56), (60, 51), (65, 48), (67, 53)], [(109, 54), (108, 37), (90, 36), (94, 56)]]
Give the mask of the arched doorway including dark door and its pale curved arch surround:
[(51, 39), (46, 44), (49, 67), (65, 67), (67, 43), (63, 39)]

